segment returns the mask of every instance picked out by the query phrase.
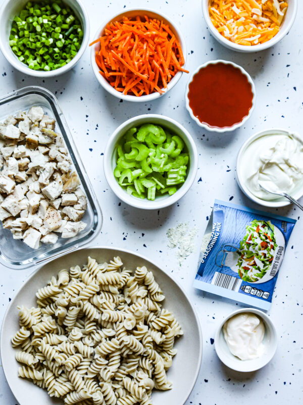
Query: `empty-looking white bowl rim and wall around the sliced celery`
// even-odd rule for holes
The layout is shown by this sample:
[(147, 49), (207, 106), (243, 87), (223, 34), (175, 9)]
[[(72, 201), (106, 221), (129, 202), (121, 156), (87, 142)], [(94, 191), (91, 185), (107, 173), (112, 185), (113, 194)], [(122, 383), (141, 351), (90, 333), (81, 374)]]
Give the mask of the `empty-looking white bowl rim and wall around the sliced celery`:
[[(158, 201), (158, 204), (156, 204), (157, 198), (154, 201), (149, 201), (147, 199), (140, 199), (137, 197), (133, 197), (132, 195), (128, 195), (127, 192), (118, 184), (116, 178), (115, 177), (113, 178), (113, 169), (112, 169), (111, 165), (108, 165), (108, 159), (111, 158), (113, 149), (115, 148), (115, 146), (113, 147), (112, 144), (113, 144), (115, 138), (117, 137), (117, 134), (128, 124), (131, 124), (134, 121), (140, 120), (142, 118), (148, 119), (151, 121), (155, 118), (162, 119), (164, 121), (167, 121), (168, 123), (175, 125), (182, 131), (182, 133), (184, 134), (184, 138), (186, 138), (188, 140), (188, 142), (190, 143), (190, 145), (192, 147), (192, 151), (193, 151), (192, 155), (189, 156), (190, 166), (192, 167), (192, 170), (190, 171), (191, 176), (189, 177), (189, 172), (188, 172), (186, 180), (182, 184), (182, 186), (173, 195), (169, 195), (166, 198), (162, 199), (161, 201)], [(159, 125), (161, 125), (161, 124), (159, 124)], [(165, 124), (162, 124), (162, 125), (165, 126)], [(121, 136), (123, 136), (123, 135), (121, 135)], [(113, 132), (113, 134), (109, 138), (107, 145), (106, 145), (106, 149), (104, 152), (103, 167), (104, 167), (105, 178), (106, 178), (110, 188), (112, 189), (112, 191), (116, 194), (116, 196), (119, 199), (124, 201), (124, 203), (126, 203), (127, 205), (130, 205), (132, 207), (140, 208), (143, 210), (160, 210), (162, 208), (168, 207), (168, 206), (176, 203), (176, 201), (178, 201), (180, 198), (182, 198), (187, 193), (187, 191), (190, 189), (190, 187), (195, 179), (196, 172), (197, 172), (198, 152), (197, 152), (197, 149), (196, 149), (192, 136), (176, 120), (174, 120), (173, 118), (170, 118), (166, 115), (161, 115), (161, 114), (141, 114), (141, 115), (136, 115), (132, 118), (127, 119), (126, 121), (124, 121), (124, 123), (119, 125), (119, 127), (116, 128), (116, 130)], [(115, 182), (117, 183), (117, 185), (119, 187), (112, 187), (112, 180), (115, 180)], [(131, 198), (127, 198), (127, 197), (131, 197)]]

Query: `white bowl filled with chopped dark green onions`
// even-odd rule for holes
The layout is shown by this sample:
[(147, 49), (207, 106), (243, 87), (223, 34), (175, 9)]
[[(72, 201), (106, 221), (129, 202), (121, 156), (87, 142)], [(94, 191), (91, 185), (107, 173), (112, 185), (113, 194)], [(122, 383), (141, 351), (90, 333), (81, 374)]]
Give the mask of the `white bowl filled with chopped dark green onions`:
[(89, 20), (79, 0), (5, 0), (0, 49), (19, 71), (35, 77), (65, 73), (83, 55)]

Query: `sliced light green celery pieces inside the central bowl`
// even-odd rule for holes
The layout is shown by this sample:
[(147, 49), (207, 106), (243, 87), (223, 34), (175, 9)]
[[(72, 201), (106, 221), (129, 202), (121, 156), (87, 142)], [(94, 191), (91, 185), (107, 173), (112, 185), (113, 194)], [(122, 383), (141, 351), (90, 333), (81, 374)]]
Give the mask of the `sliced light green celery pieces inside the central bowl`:
[(187, 174), (183, 140), (159, 125), (130, 128), (117, 145), (114, 175), (128, 194), (154, 200), (174, 194)]

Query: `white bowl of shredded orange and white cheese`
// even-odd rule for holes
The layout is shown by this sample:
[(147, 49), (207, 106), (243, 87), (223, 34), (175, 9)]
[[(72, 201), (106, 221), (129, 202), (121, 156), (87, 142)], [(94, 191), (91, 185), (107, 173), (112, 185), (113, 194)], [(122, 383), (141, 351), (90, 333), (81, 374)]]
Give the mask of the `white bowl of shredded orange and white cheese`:
[(297, 0), (202, 0), (205, 21), (225, 47), (257, 52), (277, 44), (289, 32)]

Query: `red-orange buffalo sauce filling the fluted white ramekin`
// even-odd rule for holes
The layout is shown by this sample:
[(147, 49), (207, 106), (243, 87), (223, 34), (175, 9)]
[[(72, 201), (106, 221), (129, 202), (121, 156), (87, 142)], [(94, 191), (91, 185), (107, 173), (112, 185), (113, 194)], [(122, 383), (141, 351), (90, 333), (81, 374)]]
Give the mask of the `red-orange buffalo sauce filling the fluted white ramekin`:
[(193, 114), (213, 128), (240, 123), (248, 114), (253, 97), (241, 70), (221, 62), (201, 68), (189, 84), (188, 100)]

